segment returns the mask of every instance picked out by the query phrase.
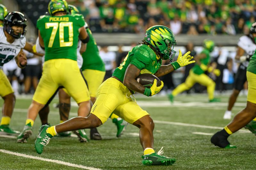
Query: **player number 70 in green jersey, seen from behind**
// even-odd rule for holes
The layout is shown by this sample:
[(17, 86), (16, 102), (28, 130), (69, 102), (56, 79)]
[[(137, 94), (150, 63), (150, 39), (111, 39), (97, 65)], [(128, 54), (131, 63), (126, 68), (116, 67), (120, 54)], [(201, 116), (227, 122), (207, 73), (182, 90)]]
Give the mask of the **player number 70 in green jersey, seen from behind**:
[[(21, 143), (31, 136), (38, 111), (60, 86), (64, 86), (78, 103), (78, 116), (85, 117), (90, 111), (90, 94), (76, 61), (78, 40), (83, 43), (89, 41), (84, 17), (69, 15), (65, 0), (50, 1), (48, 10), (51, 16), (44, 15), (37, 20), (39, 43), (45, 48), (45, 62), (43, 75), (28, 108), (26, 125), (17, 137), (17, 142)], [(50, 131), (47, 132), (55, 133)]]

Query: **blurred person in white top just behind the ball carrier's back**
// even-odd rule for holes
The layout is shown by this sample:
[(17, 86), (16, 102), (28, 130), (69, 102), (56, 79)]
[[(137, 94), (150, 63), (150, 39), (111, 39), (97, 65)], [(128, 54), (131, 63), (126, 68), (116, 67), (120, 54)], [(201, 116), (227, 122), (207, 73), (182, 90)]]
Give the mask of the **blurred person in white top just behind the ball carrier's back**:
[(106, 75), (104, 80), (112, 76), (113, 70), (116, 68), (116, 53), (108, 51), (108, 46), (103, 46), (100, 50), (100, 57), (105, 63)]

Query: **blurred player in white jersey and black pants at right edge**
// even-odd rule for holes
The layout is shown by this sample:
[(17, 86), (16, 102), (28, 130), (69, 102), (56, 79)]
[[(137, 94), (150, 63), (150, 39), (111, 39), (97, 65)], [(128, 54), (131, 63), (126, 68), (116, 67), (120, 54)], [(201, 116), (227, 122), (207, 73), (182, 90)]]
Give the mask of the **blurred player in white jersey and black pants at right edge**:
[(232, 94), (228, 100), (228, 109), (226, 110), (223, 119), (231, 119), (231, 109), (234, 106), (237, 96), (240, 91), (244, 89), (244, 83), (246, 82), (246, 68), (249, 64), (249, 60), (253, 55), (256, 44), (256, 23), (252, 24), (250, 28), (250, 33), (248, 35), (243, 35), (239, 38), (237, 42), (237, 50), (236, 50), (236, 62), (240, 63), (236, 78), (235, 78), (235, 87)]

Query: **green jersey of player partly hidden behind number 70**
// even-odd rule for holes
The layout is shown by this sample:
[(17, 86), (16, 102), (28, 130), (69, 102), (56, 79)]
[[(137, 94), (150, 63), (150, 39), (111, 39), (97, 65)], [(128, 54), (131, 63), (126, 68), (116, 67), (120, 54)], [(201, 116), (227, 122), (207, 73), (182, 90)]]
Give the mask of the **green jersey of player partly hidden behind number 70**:
[(90, 37), (89, 42), (87, 43), (86, 51), (82, 54), (83, 65), (82, 70), (92, 69), (105, 71), (105, 64), (99, 55), (99, 49), (97, 47), (96, 41), (92, 36), (92, 32), (89, 28), (86, 28), (86, 31)]

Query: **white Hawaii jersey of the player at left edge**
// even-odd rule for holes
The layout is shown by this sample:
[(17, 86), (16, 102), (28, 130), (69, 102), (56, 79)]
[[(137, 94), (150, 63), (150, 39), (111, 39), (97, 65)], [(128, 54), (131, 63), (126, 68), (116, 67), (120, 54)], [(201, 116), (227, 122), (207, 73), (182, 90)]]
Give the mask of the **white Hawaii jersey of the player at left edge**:
[(4, 35), (3, 27), (0, 27), (0, 68), (3, 67), (4, 63), (9, 62), (12, 58), (16, 57), (21, 48), (26, 45), (26, 38), (15, 39), (12, 44), (7, 42)]

